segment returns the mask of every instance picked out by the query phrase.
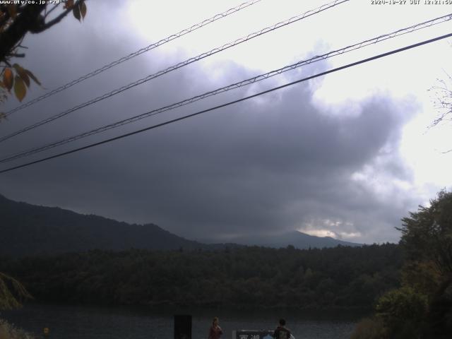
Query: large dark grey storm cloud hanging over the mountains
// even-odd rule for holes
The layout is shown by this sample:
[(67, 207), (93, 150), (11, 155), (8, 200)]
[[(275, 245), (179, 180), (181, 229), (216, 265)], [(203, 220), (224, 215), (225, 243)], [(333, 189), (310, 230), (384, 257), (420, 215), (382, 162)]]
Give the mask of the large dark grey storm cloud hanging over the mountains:
[[(74, 24), (68, 25), (72, 29)], [(45, 62), (49, 56), (43, 50), (58, 40), (58, 32), (30, 40), (29, 68), (42, 71), (43, 82), (52, 88), (61, 84), (62, 74), (68, 80), (76, 78), (105, 64), (106, 55), (112, 60), (131, 52), (118, 40), (99, 39), (100, 31), (93, 30), (79, 33), (83, 44), (77, 44), (75, 38), (71, 42), (64, 40), (66, 49), (61, 49), (58, 56), (61, 62), (54, 64)], [(92, 50), (87, 51), (88, 46)], [(138, 42), (128, 44), (132, 46), (143, 47)], [(56, 95), (54, 100), (40, 102), (36, 105), (39, 108), (33, 109), (38, 112), (36, 116), (31, 115), (32, 110), (19, 112), (1, 128), (13, 131), (157, 71), (167, 62), (167, 66), (172, 64), (158, 52), (150, 55)], [(186, 56), (172, 58), (183, 60)], [(221, 67), (225, 76), (213, 81), (209, 80), (208, 69), (187, 66), (13, 139), (2, 154), (167, 105), (242, 80), (251, 73), (234, 64)], [(300, 76), (297, 72), (288, 77)], [(272, 84), (254, 85), (253, 90)], [(342, 114), (331, 114), (313, 103), (313, 90), (304, 83), (83, 153), (2, 174), (1, 193), (21, 201), (129, 222), (155, 222), (189, 238), (303, 228), (331, 230), (338, 237), (359, 233), (357, 241), (395, 241), (393, 227), (399, 225), (408, 206), (417, 202), (398, 189), (390, 198), (382, 198), (378, 185), (371, 186), (353, 175), (367, 169), (388, 181), (409, 178), (410, 172), (398, 155), (398, 142), (400, 129), (415, 108), (376, 95), (360, 103), (359, 114), (348, 114), (347, 108)], [(243, 93), (227, 93), (165, 117), (196, 112)], [(121, 131), (162, 119), (143, 120)]]

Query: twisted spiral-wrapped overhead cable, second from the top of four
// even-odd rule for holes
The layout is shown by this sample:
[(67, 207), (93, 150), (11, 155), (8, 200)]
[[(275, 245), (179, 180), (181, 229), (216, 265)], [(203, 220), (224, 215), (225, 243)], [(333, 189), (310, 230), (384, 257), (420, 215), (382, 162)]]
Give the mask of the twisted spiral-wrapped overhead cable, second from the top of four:
[(54, 121), (56, 119), (59, 119), (61, 117), (64, 117), (67, 114), (75, 112), (78, 109), (81, 109), (83, 107), (87, 107), (89, 105), (93, 105), (95, 102), (99, 102), (101, 100), (105, 100), (105, 99), (107, 99), (109, 97), (112, 97), (113, 95), (117, 95), (117, 94), (119, 94), (121, 92), (124, 92), (124, 90), (129, 90), (130, 88), (133, 88), (133, 87), (135, 87), (137, 85), (141, 85), (142, 83), (145, 83), (145, 82), (150, 81), (150, 80), (152, 80), (154, 78), (162, 76), (165, 73), (169, 73), (171, 71), (175, 71), (176, 69), (180, 69), (183, 66), (192, 64), (195, 61), (199, 61), (199, 60), (204, 59), (206, 57), (210, 57), (211, 55), (216, 54), (218, 52), (222, 52), (225, 49), (237, 46), (237, 44), (241, 44), (242, 42), (247, 42), (247, 41), (249, 41), (251, 39), (254, 39), (254, 37), (259, 37), (259, 36), (261, 36), (263, 34), (266, 34), (268, 32), (272, 32), (273, 30), (276, 30), (276, 29), (281, 28), (281, 27), (286, 26), (286, 25), (290, 25), (291, 23), (295, 23), (295, 22), (297, 22), (299, 20), (302, 20), (302, 19), (307, 18), (309, 16), (313, 16), (314, 14), (320, 13), (322, 11), (326, 11), (329, 8), (333, 8), (335, 6), (338, 6), (339, 4), (343, 4), (344, 2), (347, 2), (347, 1), (350, 1), (350, 0), (335, 0), (335, 1), (331, 2), (331, 3), (329, 3), (329, 4), (325, 4), (325, 5), (320, 6), (319, 8), (316, 8), (314, 10), (302, 13), (299, 16), (294, 16), (294, 17), (292, 17), (290, 19), (281, 21), (280, 23), (276, 23), (275, 25), (263, 28), (262, 30), (259, 30), (259, 31), (254, 32), (254, 33), (251, 33), (251, 34), (247, 35), (246, 37), (241, 37), (241, 38), (235, 40), (234, 42), (229, 42), (227, 44), (224, 44), (222, 47), (217, 47), (215, 49), (211, 49), (209, 52), (205, 52), (205, 53), (199, 54), (197, 57), (193, 57), (191, 59), (187, 59), (186, 61), (182, 61), (179, 64), (170, 66), (170, 67), (168, 67), (165, 70), (162, 70), (162, 71), (159, 71), (157, 73), (151, 74), (150, 76), (146, 76), (145, 78), (142, 78), (142, 79), (140, 79), (138, 81), (134, 81), (133, 83), (129, 83), (128, 85), (122, 86), (121, 88), (117, 88), (116, 90), (112, 90), (109, 93), (105, 93), (104, 95), (101, 95), (100, 97), (96, 97), (95, 99), (92, 99), (92, 100), (90, 100), (88, 102), (84, 102), (81, 105), (78, 105), (76, 107), (72, 107), (71, 109), (67, 109), (66, 111), (61, 112), (59, 114), (55, 114), (52, 117), (49, 117), (49, 118), (44, 119), (42, 121), (39, 121), (39, 122), (37, 122), (35, 124), (27, 126), (27, 127), (23, 128), (23, 129), (15, 131), (15, 132), (13, 132), (11, 134), (8, 134), (7, 136), (3, 136), (3, 137), (0, 138), (0, 142), (6, 141), (9, 138), (12, 138), (13, 136), (17, 136), (18, 134), (25, 133), (26, 131), (30, 131), (31, 129), (35, 129), (35, 128), (39, 127), (39, 126), (42, 126), (43, 124), (48, 124), (49, 122)]

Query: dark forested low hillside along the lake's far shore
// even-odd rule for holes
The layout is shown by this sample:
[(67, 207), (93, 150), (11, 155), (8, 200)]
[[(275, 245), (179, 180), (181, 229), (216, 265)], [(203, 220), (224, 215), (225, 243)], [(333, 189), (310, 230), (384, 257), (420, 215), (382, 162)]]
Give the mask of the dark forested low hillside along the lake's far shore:
[(37, 302), (234, 307), (369, 308), (400, 265), (395, 244), (0, 258)]

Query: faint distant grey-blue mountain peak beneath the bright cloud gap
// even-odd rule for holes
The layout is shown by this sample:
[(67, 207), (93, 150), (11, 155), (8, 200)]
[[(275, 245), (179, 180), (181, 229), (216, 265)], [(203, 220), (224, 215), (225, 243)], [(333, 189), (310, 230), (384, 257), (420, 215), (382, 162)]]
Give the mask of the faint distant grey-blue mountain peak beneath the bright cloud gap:
[[(208, 242), (213, 242), (210, 240)], [(331, 237), (315, 237), (314, 235), (309, 235), (306, 233), (292, 231), (280, 234), (278, 236), (265, 236), (261, 234), (256, 234), (249, 237), (236, 237), (230, 239), (230, 242), (235, 244), (246, 244), (246, 245), (256, 245), (256, 246), (266, 246), (266, 247), (287, 247), (289, 245), (295, 246), (297, 249), (309, 249), (318, 248), (323, 249), (323, 247), (335, 247), (338, 245), (342, 246), (362, 246), (362, 244), (356, 244), (354, 242), (343, 242)]]

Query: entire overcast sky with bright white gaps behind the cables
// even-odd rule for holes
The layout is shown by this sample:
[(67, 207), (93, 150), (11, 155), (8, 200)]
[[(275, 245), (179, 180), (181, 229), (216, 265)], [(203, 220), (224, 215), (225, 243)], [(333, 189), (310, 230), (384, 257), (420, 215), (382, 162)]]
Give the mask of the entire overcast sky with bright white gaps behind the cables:
[[(242, 1), (87, 1), (29, 35), (26, 58), (45, 89), (89, 73)], [(402, 1), (400, 1), (402, 2)], [(262, 0), (124, 62), (0, 124), (28, 126), (328, 1)], [(452, 5), (351, 0), (165, 74), (1, 143), (0, 156), (58, 141), (215, 88), (444, 16)], [(117, 136), (343, 64), (452, 32), (450, 22), (373, 44), (16, 162)], [(452, 40), (338, 71), (80, 153), (0, 174), (0, 194), (126, 222), (152, 222), (189, 239), (300, 230), (351, 242), (398, 242), (400, 218), (451, 189), (451, 124), (436, 117), (438, 78), (452, 73)], [(452, 84), (451, 84), (452, 85)], [(11, 97), (2, 110), (16, 107)]]

